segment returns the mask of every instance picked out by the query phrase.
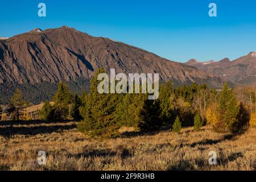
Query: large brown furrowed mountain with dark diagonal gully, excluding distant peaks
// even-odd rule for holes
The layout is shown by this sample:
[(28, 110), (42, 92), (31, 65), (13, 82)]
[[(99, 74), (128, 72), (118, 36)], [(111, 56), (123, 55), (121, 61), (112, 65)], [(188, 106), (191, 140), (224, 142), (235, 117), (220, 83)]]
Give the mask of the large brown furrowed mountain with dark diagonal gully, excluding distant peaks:
[(175, 84), (225, 81), (195, 67), (163, 59), (122, 42), (93, 37), (74, 28), (30, 32), (0, 40), (0, 83), (74, 81), (90, 78), (98, 68), (122, 73), (159, 73), (160, 80)]

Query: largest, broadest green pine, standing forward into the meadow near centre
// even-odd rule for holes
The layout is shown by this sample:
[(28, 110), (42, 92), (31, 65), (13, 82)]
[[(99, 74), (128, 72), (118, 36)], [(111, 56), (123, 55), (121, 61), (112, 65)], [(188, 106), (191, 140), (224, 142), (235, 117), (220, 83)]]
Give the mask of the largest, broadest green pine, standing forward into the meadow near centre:
[(101, 81), (97, 80), (97, 76), (100, 73), (105, 73), (104, 69), (98, 69), (91, 79), (86, 104), (80, 109), (84, 120), (77, 127), (90, 137), (105, 138), (116, 135), (120, 127), (115, 115), (119, 94), (98, 93), (97, 86)]

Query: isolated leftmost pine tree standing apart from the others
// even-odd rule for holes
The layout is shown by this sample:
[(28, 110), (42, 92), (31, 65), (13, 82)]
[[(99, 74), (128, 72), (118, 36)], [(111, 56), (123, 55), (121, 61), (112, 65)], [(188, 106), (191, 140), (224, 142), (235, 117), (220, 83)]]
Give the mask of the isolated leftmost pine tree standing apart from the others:
[(15, 121), (19, 121), (24, 114), (23, 109), (27, 106), (27, 102), (23, 100), (23, 94), (20, 89), (16, 89), (7, 108), (8, 115)]

